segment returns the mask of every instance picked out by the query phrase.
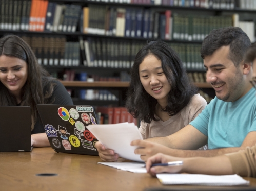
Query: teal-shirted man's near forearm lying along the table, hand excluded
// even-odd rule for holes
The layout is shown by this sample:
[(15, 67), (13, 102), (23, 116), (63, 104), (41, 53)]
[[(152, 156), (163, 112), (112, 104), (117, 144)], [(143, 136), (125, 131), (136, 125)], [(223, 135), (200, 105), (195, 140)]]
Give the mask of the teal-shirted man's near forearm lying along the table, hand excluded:
[(165, 154), (176, 156), (176, 157), (214, 157), (224, 155), (226, 153), (233, 153), (244, 148), (241, 147), (229, 147), (223, 149), (212, 149), (212, 150), (179, 150), (179, 149), (168, 149)]

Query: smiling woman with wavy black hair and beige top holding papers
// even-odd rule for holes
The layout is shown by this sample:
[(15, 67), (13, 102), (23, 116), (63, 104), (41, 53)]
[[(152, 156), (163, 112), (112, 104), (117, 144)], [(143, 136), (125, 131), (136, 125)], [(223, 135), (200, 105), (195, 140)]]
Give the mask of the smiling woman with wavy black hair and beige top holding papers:
[[(149, 41), (135, 57), (126, 108), (141, 120), (144, 139), (168, 136), (188, 125), (207, 105), (196, 91), (178, 54), (161, 40)], [(104, 161), (117, 160), (118, 155), (100, 142), (95, 146)]]

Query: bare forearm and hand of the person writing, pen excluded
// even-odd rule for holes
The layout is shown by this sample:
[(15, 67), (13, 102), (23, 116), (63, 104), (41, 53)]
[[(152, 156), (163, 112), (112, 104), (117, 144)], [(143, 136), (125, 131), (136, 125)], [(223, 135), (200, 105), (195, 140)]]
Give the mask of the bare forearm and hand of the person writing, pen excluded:
[[(153, 163), (167, 163), (170, 161), (183, 161), (181, 166), (155, 166)], [(156, 154), (150, 157), (146, 163), (146, 169), (149, 174), (155, 176), (157, 173), (192, 173), (192, 174), (210, 174), (210, 175), (227, 175), (233, 174), (231, 162), (227, 156), (203, 158), (178, 158), (164, 154)]]

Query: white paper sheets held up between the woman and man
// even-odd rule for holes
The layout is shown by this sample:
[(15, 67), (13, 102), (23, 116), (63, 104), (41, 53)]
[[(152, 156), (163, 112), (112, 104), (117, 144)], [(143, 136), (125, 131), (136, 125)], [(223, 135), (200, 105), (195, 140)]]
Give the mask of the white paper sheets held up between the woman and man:
[(134, 123), (88, 125), (86, 127), (108, 149), (114, 150), (120, 157), (143, 162), (140, 155), (134, 154), (137, 146), (131, 146), (131, 141), (143, 139)]

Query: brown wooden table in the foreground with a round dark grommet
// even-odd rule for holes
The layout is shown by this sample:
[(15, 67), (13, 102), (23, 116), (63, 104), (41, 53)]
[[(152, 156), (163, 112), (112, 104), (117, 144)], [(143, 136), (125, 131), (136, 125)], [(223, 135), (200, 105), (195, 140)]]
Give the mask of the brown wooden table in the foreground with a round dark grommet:
[[(135, 174), (97, 164), (97, 156), (56, 153), (52, 148), (34, 148), (32, 152), (0, 153), (0, 190), (145, 190), (231, 189), (238, 187), (163, 186), (149, 174)], [(52, 173), (57, 176), (37, 176)], [(256, 179), (251, 186), (256, 189)]]

